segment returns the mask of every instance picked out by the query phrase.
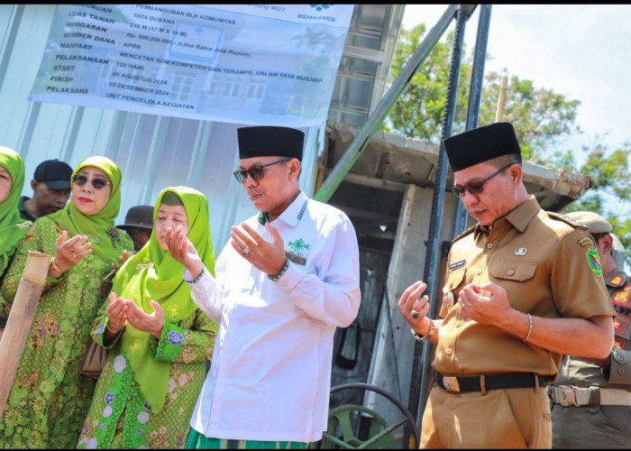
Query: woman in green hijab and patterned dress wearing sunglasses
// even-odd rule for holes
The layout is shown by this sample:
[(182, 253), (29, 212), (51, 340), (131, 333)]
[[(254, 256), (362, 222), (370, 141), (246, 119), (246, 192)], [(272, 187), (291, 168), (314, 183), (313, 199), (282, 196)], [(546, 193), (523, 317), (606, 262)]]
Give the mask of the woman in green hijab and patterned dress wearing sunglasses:
[(79, 373), (90, 327), (105, 301), (104, 276), (132, 239), (114, 227), (121, 171), (105, 157), (88, 157), (72, 173), (66, 207), (35, 220), (5, 274), (2, 294), (13, 301), (29, 251), (50, 264), (14, 385), (0, 421), (0, 446), (77, 445), (96, 381)]

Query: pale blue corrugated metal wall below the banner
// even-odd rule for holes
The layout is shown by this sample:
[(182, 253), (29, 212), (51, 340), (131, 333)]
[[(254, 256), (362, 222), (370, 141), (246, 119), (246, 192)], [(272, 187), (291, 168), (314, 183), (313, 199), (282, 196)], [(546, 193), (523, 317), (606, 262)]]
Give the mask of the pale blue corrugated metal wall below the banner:
[[(123, 171), (122, 224), (129, 207), (152, 205), (160, 189), (187, 185), (206, 194), (215, 253), (230, 226), (255, 213), (233, 179), (238, 166), (236, 128), (242, 124), (141, 115), (110, 109), (27, 100), (40, 67), (56, 5), (0, 5), (0, 145), (19, 152), (26, 165), (23, 194), (43, 160), (75, 167), (90, 155), (105, 155)], [(313, 194), (316, 155), (323, 127), (306, 132), (300, 185)]]

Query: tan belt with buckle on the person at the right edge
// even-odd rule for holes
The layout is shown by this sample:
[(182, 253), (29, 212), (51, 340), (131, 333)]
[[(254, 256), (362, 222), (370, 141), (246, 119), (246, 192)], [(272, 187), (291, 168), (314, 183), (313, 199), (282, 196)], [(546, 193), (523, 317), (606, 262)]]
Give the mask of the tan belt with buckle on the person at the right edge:
[(596, 385), (575, 387), (573, 385), (550, 385), (548, 396), (554, 404), (569, 406), (631, 406), (631, 391), (607, 389)]

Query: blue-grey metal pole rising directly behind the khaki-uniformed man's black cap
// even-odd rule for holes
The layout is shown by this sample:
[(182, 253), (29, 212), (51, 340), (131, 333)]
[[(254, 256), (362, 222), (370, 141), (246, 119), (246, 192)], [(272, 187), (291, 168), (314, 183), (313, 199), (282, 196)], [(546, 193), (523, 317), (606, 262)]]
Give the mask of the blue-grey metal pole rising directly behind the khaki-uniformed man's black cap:
[[(482, 97), (482, 82), (484, 81), (484, 62), (487, 58), (487, 42), (489, 41), (491, 5), (480, 6), (478, 19), (478, 35), (475, 40), (475, 54), (471, 72), (471, 87), (469, 93), (469, 107), (467, 108), (467, 124), (465, 130), (473, 130), (478, 126), (480, 115), (480, 98)], [(453, 238), (462, 234), (467, 225), (467, 212), (462, 206), (460, 198), (456, 201), (456, 212), (453, 219)]]

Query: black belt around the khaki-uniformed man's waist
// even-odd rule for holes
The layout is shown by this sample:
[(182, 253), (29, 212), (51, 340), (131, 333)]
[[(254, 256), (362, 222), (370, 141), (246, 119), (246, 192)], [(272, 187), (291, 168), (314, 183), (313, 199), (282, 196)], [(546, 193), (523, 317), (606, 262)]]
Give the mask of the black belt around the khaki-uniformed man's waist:
[(535, 387), (535, 380), (539, 382), (539, 387), (545, 387), (546, 384), (546, 377), (535, 373), (498, 373), (479, 376), (444, 376), (436, 373), (434, 381), (442, 389), (458, 393), (482, 391), (480, 383), (482, 378), (484, 378), (485, 390)]

